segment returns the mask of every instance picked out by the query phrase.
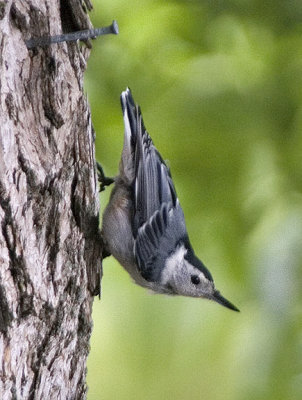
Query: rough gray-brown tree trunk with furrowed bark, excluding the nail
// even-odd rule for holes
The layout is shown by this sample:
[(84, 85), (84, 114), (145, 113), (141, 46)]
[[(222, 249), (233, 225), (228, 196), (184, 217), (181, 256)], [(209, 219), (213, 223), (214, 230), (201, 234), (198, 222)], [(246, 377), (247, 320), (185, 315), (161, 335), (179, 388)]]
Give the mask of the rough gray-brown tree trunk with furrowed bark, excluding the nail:
[[(86, 0), (89, 7), (89, 1)], [(101, 246), (80, 0), (0, 1), (0, 398), (84, 399)]]

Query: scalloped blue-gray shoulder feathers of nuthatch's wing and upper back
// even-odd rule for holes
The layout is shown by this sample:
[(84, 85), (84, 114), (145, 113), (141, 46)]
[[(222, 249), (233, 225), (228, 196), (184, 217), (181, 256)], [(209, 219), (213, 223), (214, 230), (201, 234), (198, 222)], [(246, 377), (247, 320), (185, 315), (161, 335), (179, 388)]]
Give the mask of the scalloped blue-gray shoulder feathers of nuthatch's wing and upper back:
[(176, 206), (164, 203), (160, 210), (138, 230), (134, 253), (139, 271), (144, 279), (160, 281), (164, 262), (180, 242), (187, 242), (183, 211), (177, 200)]

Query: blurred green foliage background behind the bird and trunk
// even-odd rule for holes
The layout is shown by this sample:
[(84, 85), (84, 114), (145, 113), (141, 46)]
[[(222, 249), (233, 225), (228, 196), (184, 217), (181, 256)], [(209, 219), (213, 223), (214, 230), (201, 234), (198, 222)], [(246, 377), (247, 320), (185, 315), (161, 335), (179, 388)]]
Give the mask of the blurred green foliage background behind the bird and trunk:
[(97, 159), (117, 173), (130, 86), (195, 251), (241, 313), (149, 294), (106, 259), (88, 399), (302, 399), (301, 0), (93, 4), (95, 26), (120, 27), (86, 74)]

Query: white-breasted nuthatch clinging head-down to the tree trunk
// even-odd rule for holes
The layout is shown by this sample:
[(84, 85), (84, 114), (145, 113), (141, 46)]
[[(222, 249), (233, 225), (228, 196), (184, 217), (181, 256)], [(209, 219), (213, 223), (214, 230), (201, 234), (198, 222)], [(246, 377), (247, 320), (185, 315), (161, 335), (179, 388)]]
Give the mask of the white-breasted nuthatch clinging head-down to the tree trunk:
[[(239, 311), (196, 257), (172, 177), (130, 89), (121, 94), (125, 136), (120, 173), (103, 215), (106, 251), (134, 281), (157, 293), (203, 297)], [(99, 171), (102, 188), (112, 180)]]

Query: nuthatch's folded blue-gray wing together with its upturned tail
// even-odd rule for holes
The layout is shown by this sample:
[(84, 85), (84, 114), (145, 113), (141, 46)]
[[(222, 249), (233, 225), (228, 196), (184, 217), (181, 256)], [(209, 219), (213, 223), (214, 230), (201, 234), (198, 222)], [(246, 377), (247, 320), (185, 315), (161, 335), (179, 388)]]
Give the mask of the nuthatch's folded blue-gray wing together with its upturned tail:
[(130, 89), (121, 96), (128, 142), (134, 153), (134, 253), (148, 281), (159, 281), (163, 262), (188, 240), (183, 211), (168, 167), (146, 131)]

